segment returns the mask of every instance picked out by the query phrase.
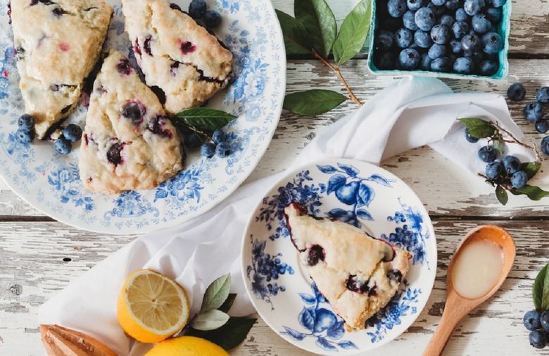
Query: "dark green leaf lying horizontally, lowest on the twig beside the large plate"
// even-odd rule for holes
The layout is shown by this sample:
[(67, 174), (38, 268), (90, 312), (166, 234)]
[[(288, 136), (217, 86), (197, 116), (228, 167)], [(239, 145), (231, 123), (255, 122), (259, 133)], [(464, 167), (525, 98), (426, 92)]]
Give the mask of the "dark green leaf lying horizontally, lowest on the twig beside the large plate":
[(282, 107), (299, 115), (320, 115), (346, 100), (346, 96), (337, 91), (311, 89), (286, 95)]

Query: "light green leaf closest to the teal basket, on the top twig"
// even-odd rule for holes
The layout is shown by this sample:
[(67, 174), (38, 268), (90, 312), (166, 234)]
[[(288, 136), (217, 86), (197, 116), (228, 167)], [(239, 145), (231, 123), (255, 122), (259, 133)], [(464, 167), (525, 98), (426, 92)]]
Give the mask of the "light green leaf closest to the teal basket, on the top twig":
[(334, 42), (334, 59), (338, 66), (356, 56), (364, 46), (370, 31), (370, 4), (370, 0), (360, 1), (343, 20)]

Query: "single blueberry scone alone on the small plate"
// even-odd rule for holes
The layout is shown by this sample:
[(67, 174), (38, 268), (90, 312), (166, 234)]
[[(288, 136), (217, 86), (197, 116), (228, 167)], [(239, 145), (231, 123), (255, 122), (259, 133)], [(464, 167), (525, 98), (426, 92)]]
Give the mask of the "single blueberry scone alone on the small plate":
[(299, 260), (334, 311), (353, 329), (389, 303), (408, 273), (410, 253), (351, 224), (284, 210)]

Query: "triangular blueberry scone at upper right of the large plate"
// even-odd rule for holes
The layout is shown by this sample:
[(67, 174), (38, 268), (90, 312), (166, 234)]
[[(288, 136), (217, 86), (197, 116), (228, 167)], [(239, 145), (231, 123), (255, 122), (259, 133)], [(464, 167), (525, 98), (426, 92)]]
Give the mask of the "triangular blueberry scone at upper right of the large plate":
[(168, 113), (200, 106), (232, 80), (232, 53), (166, 0), (122, 0), (135, 58)]

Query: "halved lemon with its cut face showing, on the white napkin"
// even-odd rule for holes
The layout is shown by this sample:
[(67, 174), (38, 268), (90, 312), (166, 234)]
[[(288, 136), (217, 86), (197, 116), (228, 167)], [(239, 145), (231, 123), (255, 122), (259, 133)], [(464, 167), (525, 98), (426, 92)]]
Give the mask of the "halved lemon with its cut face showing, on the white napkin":
[(120, 291), (117, 314), (129, 336), (142, 343), (158, 343), (187, 323), (189, 300), (176, 281), (151, 269), (137, 269)]

